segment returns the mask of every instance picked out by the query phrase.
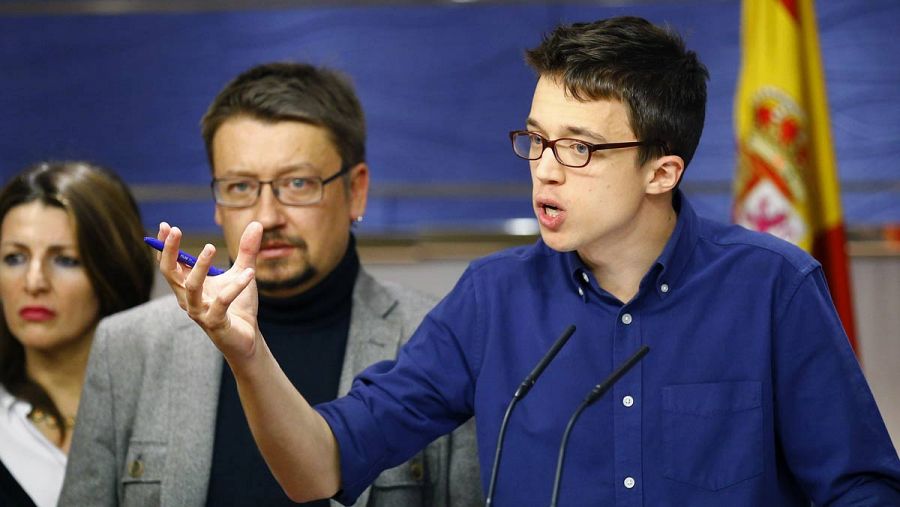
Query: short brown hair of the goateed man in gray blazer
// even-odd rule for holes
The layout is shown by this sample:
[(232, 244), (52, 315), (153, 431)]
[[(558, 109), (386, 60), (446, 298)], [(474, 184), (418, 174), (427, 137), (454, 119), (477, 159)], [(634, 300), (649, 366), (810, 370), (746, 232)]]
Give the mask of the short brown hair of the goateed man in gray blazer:
[(210, 168), (212, 142), (225, 121), (238, 117), (299, 121), (324, 127), (343, 167), (366, 159), (366, 121), (350, 81), (337, 71), (305, 63), (276, 62), (250, 68), (219, 92), (201, 120)]

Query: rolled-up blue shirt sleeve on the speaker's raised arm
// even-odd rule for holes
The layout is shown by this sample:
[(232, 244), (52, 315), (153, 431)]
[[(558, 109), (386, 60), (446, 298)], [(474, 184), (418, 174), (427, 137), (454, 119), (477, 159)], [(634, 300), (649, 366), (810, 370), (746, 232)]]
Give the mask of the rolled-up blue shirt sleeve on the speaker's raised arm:
[(395, 361), (367, 368), (347, 396), (316, 406), (338, 442), (350, 504), (385, 469), (403, 463), (473, 414), (481, 323), (470, 271), (422, 321)]

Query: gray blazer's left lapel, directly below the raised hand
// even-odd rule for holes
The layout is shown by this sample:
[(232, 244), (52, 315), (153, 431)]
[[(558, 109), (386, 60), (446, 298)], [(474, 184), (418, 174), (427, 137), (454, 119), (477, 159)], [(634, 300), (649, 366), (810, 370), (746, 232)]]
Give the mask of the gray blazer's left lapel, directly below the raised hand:
[(175, 329), (166, 477), (161, 504), (201, 506), (212, 467), (222, 354), (194, 322)]

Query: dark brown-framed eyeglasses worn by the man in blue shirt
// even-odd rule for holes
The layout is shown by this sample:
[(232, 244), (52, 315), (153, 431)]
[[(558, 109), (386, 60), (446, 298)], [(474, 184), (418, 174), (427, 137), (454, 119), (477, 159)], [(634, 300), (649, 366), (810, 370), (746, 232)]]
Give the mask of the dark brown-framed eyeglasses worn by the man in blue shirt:
[(512, 141), (513, 152), (518, 157), (525, 160), (538, 160), (544, 155), (544, 151), (550, 148), (553, 151), (553, 156), (556, 157), (556, 161), (568, 167), (584, 167), (588, 165), (588, 162), (591, 161), (591, 154), (595, 151), (661, 144), (656, 141), (593, 144), (568, 137), (550, 140), (537, 132), (528, 130), (513, 130), (509, 133), (509, 139)]

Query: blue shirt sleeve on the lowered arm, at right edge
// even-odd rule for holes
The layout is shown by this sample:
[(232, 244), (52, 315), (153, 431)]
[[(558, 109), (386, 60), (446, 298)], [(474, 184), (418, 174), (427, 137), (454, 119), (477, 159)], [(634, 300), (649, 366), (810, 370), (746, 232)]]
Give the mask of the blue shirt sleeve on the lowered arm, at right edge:
[(816, 505), (900, 505), (900, 460), (821, 268), (803, 277), (774, 335), (775, 421)]

